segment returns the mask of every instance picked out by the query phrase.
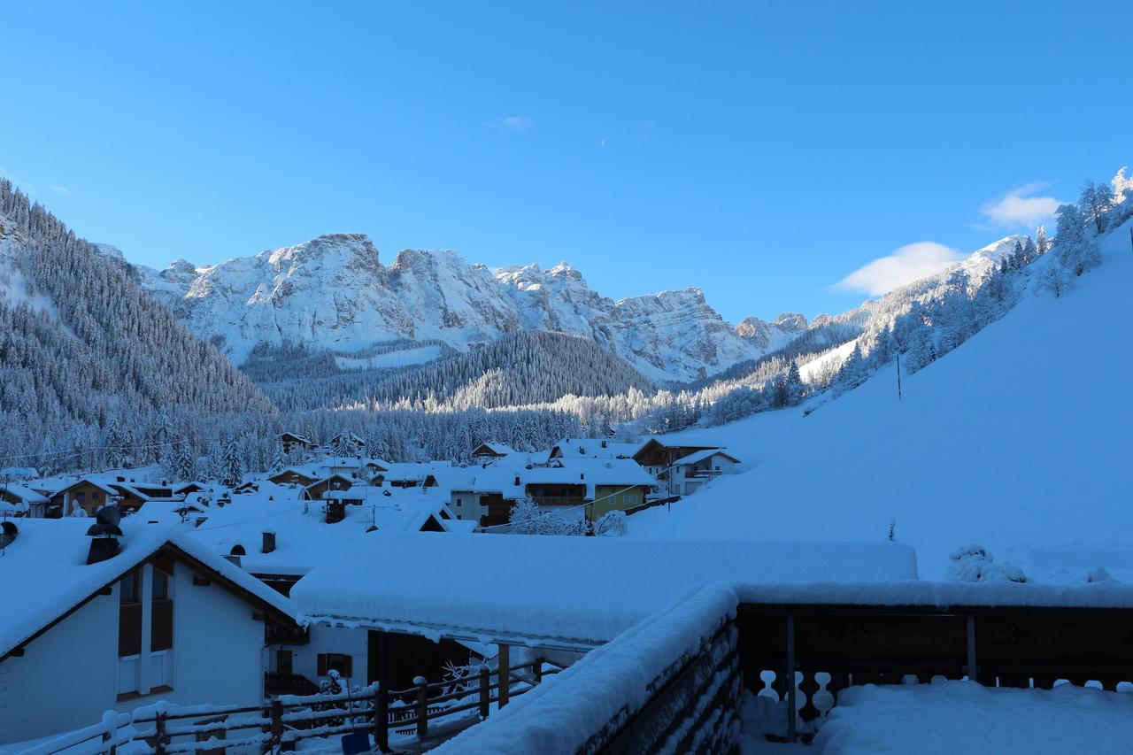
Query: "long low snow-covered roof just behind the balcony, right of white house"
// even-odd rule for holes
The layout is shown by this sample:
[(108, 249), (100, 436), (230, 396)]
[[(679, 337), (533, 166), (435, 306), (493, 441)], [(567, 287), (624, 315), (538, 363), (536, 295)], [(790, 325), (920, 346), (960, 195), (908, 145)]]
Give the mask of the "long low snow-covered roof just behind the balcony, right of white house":
[[(390, 575), (377, 578), (375, 575)], [(663, 542), (378, 532), (304, 577), (312, 617), (468, 639), (599, 644), (708, 583), (915, 579), (912, 549), (879, 543)]]

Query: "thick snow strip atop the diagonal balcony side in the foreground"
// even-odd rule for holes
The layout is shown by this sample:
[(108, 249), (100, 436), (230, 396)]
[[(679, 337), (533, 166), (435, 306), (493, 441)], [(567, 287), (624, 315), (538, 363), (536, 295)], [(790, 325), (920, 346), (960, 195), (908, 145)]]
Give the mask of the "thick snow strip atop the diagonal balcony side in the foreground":
[(434, 752), (576, 753), (620, 713), (640, 710), (648, 685), (698, 652), (735, 604), (723, 585), (692, 589)]

